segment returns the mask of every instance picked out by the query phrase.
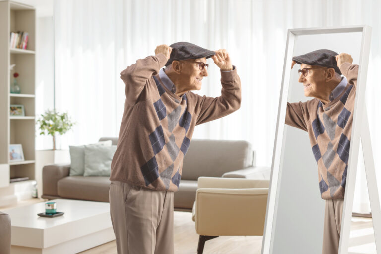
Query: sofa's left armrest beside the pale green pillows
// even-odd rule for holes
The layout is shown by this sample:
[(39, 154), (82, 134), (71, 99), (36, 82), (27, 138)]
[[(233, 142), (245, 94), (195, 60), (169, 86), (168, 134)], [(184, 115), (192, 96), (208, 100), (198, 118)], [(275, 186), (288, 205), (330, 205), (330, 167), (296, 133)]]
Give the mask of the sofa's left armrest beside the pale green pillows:
[(42, 168), (42, 194), (58, 196), (57, 184), (64, 177), (69, 176), (70, 165), (52, 164)]

